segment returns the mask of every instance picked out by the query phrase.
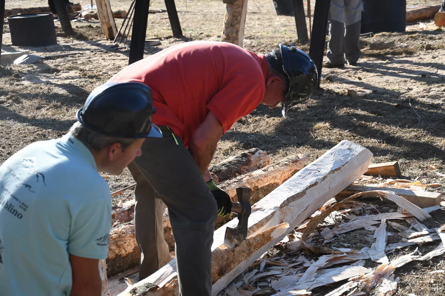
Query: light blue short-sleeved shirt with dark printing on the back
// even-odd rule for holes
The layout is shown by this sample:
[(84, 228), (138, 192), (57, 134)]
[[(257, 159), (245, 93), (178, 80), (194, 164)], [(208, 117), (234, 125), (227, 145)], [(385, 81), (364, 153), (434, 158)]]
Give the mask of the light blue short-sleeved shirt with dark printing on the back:
[(69, 253), (105, 259), (110, 190), (77, 138), (36, 142), (0, 166), (0, 295), (69, 295)]

